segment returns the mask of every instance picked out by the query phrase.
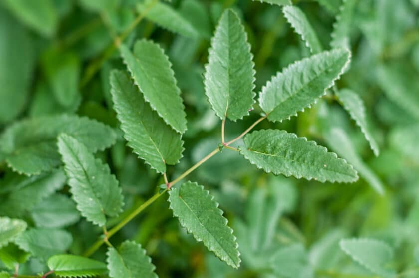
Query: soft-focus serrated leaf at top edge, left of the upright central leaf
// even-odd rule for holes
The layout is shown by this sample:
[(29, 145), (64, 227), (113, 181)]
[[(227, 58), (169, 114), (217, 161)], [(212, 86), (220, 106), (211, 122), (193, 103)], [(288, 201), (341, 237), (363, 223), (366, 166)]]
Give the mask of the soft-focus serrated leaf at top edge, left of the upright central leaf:
[(198, 31), (190, 21), (167, 4), (146, 0), (144, 3), (137, 4), (137, 10), (145, 14), (148, 20), (171, 32), (191, 38), (199, 36)]

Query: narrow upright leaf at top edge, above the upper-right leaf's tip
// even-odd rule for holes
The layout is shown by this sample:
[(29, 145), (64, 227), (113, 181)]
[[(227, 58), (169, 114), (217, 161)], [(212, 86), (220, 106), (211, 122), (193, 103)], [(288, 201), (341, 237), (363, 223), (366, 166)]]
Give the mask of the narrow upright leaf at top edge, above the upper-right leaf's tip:
[(336, 22), (333, 25), (332, 48), (350, 49), (349, 38), (352, 27), (354, 8), (358, 0), (344, 0), (340, 7), (340, 12), (336, 16)]

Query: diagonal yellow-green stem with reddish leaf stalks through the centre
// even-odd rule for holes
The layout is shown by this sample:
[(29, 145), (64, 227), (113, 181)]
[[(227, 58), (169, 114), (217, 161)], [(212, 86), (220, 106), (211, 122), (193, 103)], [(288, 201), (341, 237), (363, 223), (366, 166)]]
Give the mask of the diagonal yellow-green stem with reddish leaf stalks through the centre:
[[(224, 135), (224, 126), (225, 126), (225, 120), (223, 120), (222, 121), (222, 128), (221, 128), (222, 145), (223, 145), (223, 147), (228, 148), (228, 149), (232, 149), (232, 150), (235, 150), (235, 151), (238, 151), (236, 148), (231, 147), (229, 145), (232, 144), (232, 143), (234, 143), (235, 141), (241, 139), (243, 136), (245, 136), (257, 124), (259, 124), (261, 121), (263, 121), (264, 119), (266, 119), (266, 117), (267, 116), (263, 116), (263, 117), (259, 118), (249, 128), (247, 128), (243, 133), (241, 133), (239, 136), (237, 136), (236, 138), (234, 138), (231, 141), (228, 141), (226, 143), (224, 142), (224, 136), (223, 136)], [(189, 168), (188, 170), (186, 170), (183, 174), (181, 174), (179, 177), (177, 177), (176, 179), (174, 179), (171, 182), (168, 182), (166, 173), (164, 173), (163, 174), (163, 177), (165, 179), (165, 183), (167, 185), (167, 188), (165, 190), (163, 190), (162, 192), (157, 192), (150, 199), (148, 199), (147, 201), (145, 201), (144, 203), (142, 203), (139, 207), (137, 207), (135, 210), (133, 210), (127, 217), (125, 217), (121, 222), (119, 222), (116, 226), (114, 226), (112, 229), (110, 229), (106, 234), (104, 234), (103, 236), (101, 236), (101, 238), (99, 238), (92, 246), (90, 246), (90, 248), (86, 250), (86, 252), (83, 254), (83, 256), (89, 257), (93, 253), (95, 253), (96, 250), (98, 250), (99, 247), (101, 247), (103, 243), (105, 243), (106, 241), (108, 241), (110, 237), (112, 237), (115, 233), (117, 233), (119, 230), (121, 230), (134, 217), (136, 217), (144, 209), (146, 209), (149, 205), (151, 205), (154, 201), (156, 201), (160, 196), (162, 196), (168, 190), (170, 190), (170, 188), (173, 185), (175, 185), (177, 182), (179, 182), (184, 177), (186, 177), (187, 175), (189, 175), (196, 168), (198, 168), (199, 166), (201, 166), (205, 161), (207, 161), (208, 159), (210, 159), (212, 156), (214, 156), (218, 152), (220, 152), (220, 147), (217, 147), (216, 149), (214, 149), (213, 151), (211, 151), (207, 156), (205, 156), (203, 159), (201, 159), (200, 161), (198, 161), (195, 165), (193, 165), (191, 168)]]

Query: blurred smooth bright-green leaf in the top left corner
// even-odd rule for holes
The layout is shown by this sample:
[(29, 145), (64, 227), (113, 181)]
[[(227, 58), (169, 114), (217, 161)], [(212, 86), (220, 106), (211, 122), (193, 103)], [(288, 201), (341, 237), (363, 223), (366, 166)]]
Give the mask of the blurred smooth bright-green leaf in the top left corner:
[(43, 36), (51, 37), (58, 25), (53, 0), (4, 0), (6, 7), (24, 24)]

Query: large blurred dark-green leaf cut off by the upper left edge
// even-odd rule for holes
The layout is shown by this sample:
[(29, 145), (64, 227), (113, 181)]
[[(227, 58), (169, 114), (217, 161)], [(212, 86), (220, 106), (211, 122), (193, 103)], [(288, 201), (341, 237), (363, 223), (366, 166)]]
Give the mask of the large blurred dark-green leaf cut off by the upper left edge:
[(35, 53), (29, 32), (1, 8), (0, 37), (0, 123), (6, 123), (16, 118), (27, 102)]

